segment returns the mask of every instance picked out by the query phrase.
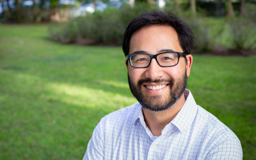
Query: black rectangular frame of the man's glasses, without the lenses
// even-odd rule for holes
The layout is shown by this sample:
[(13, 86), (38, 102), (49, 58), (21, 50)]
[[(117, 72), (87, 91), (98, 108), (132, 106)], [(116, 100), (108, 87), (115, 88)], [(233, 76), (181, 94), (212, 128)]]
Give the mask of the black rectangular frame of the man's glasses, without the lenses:
[[(186, 58), (186, 55), (188, 55), (188, 54), (185, 53), (185, 52), (175, 52), (175, 51), (172, 51), (172, 52), (162, 52), (162, 53), (158, 53), (158, 54), (155, 54), (155, 55), (147, 54), (147, 53), (133, 53), (133, 54), (128, 54), (128, 55), (126, 55), (126, 60), (129, 60), (130, 65), (132, 66), (132, 63), (131, 63), (131, 56), (132, 56), (132, 55), (140, 55), (140, 54), (149, 55), (150, 61), (149, 61), (149, 63), (148, 63), (148, 66), (150, 65), (150, 63), (151, 63), (151, 61), (152, 61), (153, 58), (156, 59), (157, 64), (158, 64), (159, 66), (161, 66), (161, 65), (159, 64), (158, 60), (157, 60), (157, 55), (159, 55), (159, 54), (164, 54), (164, 53), (177, 53), (177, 54), (178, 54), (178, 62), (177, 62), (176, 65), (178, 65), (178, 63), (179, 63), (179, 61), (180, 61), (180, 57), (185, 57), (185, 58)], [(173, 66), (176, 66), (176, 65), (173, 65)], [(132, 67), (133, 67), (133, 68), (147, 68), (148, 66), (146, 66), (146, 67), (134, 67), (134, 66), (132, 66)], [(173, 66), (161, 66), (161, 67), (173, 67)]]

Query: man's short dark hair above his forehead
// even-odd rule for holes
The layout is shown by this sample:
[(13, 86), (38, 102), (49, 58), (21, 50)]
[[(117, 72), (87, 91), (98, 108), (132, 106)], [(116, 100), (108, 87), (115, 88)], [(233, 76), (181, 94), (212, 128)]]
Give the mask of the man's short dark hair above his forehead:
[(187, 23), (175, 17), (172, 13), (163, 13), (161, 11), (153, 11), (150, 13), (142, 14), (134, 18), (128, 25), (124, 33), (123, 51), (125, 56), (129, 54), (130, 40), (132, 34), (136, 31), (153, 25), (170, 26), (173, 27), (179, 38), (180, 46), (183, 52), (190, 54), (193, 47), (194, 34), (188, 27)]

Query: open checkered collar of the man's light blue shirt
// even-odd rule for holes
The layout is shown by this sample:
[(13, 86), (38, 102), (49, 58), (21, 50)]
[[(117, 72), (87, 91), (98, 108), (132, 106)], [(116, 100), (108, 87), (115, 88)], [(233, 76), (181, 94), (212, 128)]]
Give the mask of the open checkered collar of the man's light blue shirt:
[[(197, 113), (197, 105), (192, 93), (186, 89), (184, 95), (186, 98), (186, 102), (184, 103), (179, 113), (170, 122), (174, 126), (176, 126), (180, 132), (186, 131), (186, 129), (191, 126)], [(138, 119), (140, 119), (141, 122), (145, 123), (140, 103), (136, 103), (135, 106), (136, 107), (132, 123), (136, 125)]]

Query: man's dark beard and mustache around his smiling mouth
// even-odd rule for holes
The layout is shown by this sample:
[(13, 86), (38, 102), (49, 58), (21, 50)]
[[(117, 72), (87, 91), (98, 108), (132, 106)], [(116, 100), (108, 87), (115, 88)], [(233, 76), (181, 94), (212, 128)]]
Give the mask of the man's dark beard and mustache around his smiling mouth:
[[(150, 111), (163, 111), (171, 108), (180, 98), (187, 86), (187, 70), (181, 79), (178, 80), (177, 84), (174, 85), (173, 78), (169, 79), (156, 79), (151, 78), (140, 79), (138, 85), (132, 83), (131, 78), (128, 74), (128, 82), (130, 90), (133, 96), (140, 102), (142, 108)], [(170, 87), (170, 96), (164, 97), (163, 95), (154, 95), (146, 97), (142, 94), (143, 83), (169, 83), (167, 87)]]

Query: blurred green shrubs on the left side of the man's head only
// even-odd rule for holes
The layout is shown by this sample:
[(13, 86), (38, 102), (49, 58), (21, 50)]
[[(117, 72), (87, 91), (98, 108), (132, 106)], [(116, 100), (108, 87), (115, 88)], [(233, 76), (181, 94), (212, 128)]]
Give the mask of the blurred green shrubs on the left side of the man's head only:
[(121, 10), (109, 8), (65, 23), (53, 23), (49, 29), (50, 38), (65, 43), (121, 45), (125, 27), (129, 22), (150, 10), (147, 3), (138, 3), (134, 9), (123, 5)]

